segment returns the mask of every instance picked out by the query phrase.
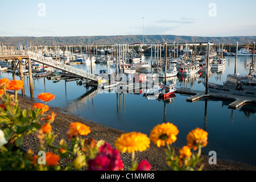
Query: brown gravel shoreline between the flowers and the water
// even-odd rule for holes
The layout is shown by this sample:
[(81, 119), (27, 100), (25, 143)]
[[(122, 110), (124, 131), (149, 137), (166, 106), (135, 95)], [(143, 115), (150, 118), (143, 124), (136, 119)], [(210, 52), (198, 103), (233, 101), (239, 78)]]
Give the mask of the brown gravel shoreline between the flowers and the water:
[[(40, 102), (37, 98), (30, 97), (20, 97), (19, 105), (21, 109), (31, 108), (35, 102)], [(52, 111), (56, 113), (55, 121), (51, 124), (52, 130), (58, 137), (55, 139), (55, 144), (60, 142), (60, 139), (67, 139), (66, 131), (68, 130), (69, 124), (72, 122), (81, 122), (90, 127), (91, 133), (84, 138), (94, 138), (96, 140), (105, 140), (112, 147), (114, 147), (114, 141), (123, 133), (121, 130), (113, 129), (107, 126), (102, 126), (96, 122), (90, 121), (89, 119), (82, 118), (79, 115), (69, 113), (60, 107), (49, 106), (49, 110), (46, 114), (51, 114)], [(67, 140), (68, 141), (68, 140)], [(23, 145), (25, 147), (31, 148), (31, 150), (36, 151), (38, 147), (38, 139), (35, 134), (28, 135), (24, 141)], [(172, 146), (176, 154), (178, 154), (179, 148)], [(256, 167), (250, 166), (243, 163), (233, 162), (229, 160), (217, 159), (217, 164), (210, 165), (208, 155), (202, 155), (202, 162), (204, 164), (203, 171), (256, 171)], [(121, 153), (122, 162), (124, 164), (124, 170), (126, 171), (130, 166), (131, 154)], [(135, 152), (135, 159), (140, 162), (142, 159), (147, 159), (151, 164), (152, 170), (155, 171), (165, 171), (168, 169), (165, 160), (165, 153), (163, 147), (158, 148), (155, 144), (150, 144), (150, 147), (143, 152)], [(65, 166), (65, 163), (60, 162), (61, 165)]]

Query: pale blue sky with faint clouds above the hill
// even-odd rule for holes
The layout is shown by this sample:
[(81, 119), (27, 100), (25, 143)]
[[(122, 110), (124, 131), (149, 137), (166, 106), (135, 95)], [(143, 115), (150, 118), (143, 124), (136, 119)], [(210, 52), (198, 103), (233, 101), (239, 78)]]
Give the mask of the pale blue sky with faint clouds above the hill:
[(0, 36), (255, 36), (255, 15), (255, 0), (0, 0)]

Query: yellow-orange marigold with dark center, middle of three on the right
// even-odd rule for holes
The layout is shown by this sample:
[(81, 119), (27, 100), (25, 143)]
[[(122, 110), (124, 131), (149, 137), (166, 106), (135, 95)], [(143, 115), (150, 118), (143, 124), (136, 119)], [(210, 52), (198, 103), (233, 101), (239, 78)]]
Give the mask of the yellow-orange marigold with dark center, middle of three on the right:
[(172, 123), (162, 123), (156, 125), (150, 133), (150, 140), (158, 147), (164, 146), (165, 143), (172, 144), (176, 141), (176, 135), (179, 130)]

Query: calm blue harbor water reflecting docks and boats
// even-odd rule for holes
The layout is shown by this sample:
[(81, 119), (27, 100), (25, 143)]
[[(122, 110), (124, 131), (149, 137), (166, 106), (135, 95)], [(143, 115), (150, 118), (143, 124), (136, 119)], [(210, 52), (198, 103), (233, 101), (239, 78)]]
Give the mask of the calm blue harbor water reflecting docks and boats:
[[(150, 57), (146, 60), (151, 63)], [(211, 72), (209, 82), (222, 84), (228, 73), (234, 73), (234, 57), (226, 57), (227, 64), (223, 71)], [(237, 73), (249, 73), (247, 64), (251, 57), (238, 57)], [(90, 64), (72, 65), (90, 72)], [(93, 64), (93, 73), (108, 69), (107, 64)], [(12, 80), (11, 73), (1, 73), (2, 77)], [(19, 77), (17, 77), (19, 79)], [(176, 87), (205, 90), (204, 74), (195, 77), (177, 76), (168, 82), (175, 82)], [(24, 77), (26, 95), (30, 96), (28, 78)], [(256, 106), (245, 105), (237, 110), (229, 109), (229, 101), (203, 99), (187, 102), (181, 94), (175, 94), (170, 102), (148, 100), (143, 94), (119, 94), (115, 90), (100, 92), (76, 84), (76, 81), (52, 82), (47, 78), (34, 80), (35, 97), (42, 92), (55, 94), (55, 100), (49, 105), (68, 109), (72, 113), (92, 119), (97, 123), (121, 129), (126, 132), (137, 131), (149, 136), (152, 128), (159, 123), (171, 122), (179, 129), (175, 146), (187, 144), (188, 132), (200, 127), (207, 131), (208, 145), (203, 152), (216, 151), (217, 158), (235, 160), (256, 166)], [(89, 92), (89, 93), (86, 93)], [(21, 93), (21, 92), (20, 92)]]

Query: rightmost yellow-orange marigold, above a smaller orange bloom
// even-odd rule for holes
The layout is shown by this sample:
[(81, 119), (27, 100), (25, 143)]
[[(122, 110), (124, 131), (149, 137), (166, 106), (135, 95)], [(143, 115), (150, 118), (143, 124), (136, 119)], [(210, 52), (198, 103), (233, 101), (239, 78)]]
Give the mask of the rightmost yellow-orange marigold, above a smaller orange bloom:
[(196, 150), (198, 146), (207, 146), (208, 133), (198, 127), (187, 135), (187, 146)]

